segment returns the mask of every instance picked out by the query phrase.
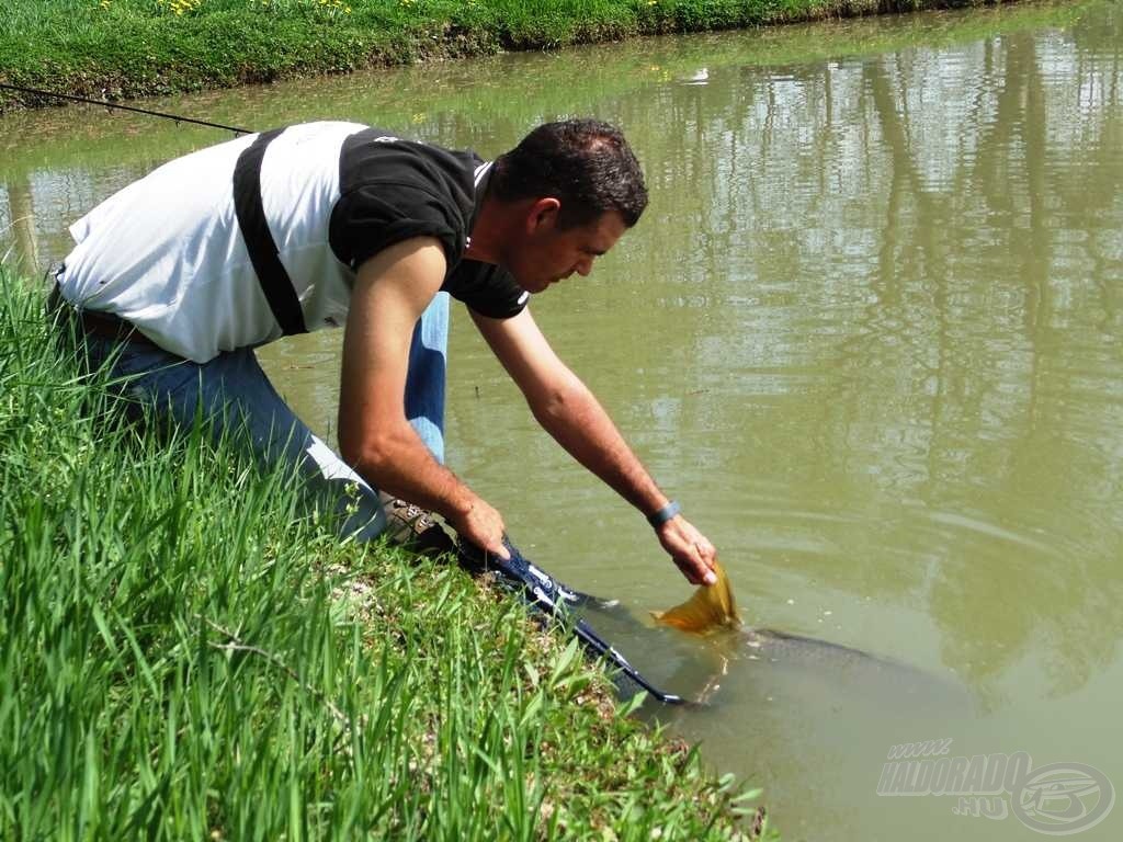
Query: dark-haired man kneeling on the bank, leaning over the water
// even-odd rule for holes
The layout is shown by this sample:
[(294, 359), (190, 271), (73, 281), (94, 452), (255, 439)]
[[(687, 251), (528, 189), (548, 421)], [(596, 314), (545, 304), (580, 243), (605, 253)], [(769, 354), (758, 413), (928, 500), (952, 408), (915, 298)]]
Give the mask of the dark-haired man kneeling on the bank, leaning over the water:
[[(503, 519), (442, 465), (448, 295), (464, 301), (535, 418), (648, 516), (692, 583), (714, 549), (678, 514), (539, 331), (530, 293), (582, 276), (647, 203), (623, 136), (548, 123), (493, 164), (347, 122), (241, 137), (173, 161), (72, 228), (58, 293), (91, 361), (175, 422), (201, 405), (257, 455), (358, 489), (348, 531), (385, 527), (374, 488), (439, 513), (506, 557)], [(345, 326), (343, 459), (284, 404), (253, 355)], [(357, 510), (357, 511), (356, 511)]]

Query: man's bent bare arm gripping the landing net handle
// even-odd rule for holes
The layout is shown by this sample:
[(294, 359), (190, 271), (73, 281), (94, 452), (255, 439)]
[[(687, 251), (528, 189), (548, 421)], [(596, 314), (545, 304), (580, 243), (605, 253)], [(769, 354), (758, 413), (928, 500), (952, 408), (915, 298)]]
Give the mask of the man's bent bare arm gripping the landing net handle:
[(405, 418), (413, 327), (444, 277), (445, 253), (430, 237), (399, 242), (359, 267), (344, 332), (339, 449), (375, 487), (444, 515), (505, 558), (499, 512), (433, 459)]

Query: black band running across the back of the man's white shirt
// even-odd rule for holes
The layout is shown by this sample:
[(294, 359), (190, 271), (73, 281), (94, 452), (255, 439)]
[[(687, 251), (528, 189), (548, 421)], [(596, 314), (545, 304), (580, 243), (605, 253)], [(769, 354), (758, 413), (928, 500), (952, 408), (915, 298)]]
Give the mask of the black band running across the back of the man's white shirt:
[(234, 212), (238, 218), (238, 228), (246, 240), (249, 262), (257, 273), (257, 283), (270, 302), (270, 310), (281, 326), (285, 336), (307, 333), (304, 313), (300, 309), (300, 299), (293, 289), (292, 278), (277, 256), (277, 245), (270, 232), (265, 219), (265, 205), (262, 202), (262, 159), (265, 147), (268, 146), (284, 129), (263, 131), (238, 156), (234, 166)]

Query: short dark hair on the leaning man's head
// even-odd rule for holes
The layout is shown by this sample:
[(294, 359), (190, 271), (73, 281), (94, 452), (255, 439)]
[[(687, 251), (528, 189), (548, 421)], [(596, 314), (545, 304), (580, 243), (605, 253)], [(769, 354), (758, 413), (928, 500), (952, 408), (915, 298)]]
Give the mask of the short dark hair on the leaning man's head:
[(491, 190), (503, 202), (554, 196), (558, 227), (575, 228), (618, 211), (631, 228), (647, 207), (643, 173), (620, 129), (600, 120), (547, 122), (492, 167)]

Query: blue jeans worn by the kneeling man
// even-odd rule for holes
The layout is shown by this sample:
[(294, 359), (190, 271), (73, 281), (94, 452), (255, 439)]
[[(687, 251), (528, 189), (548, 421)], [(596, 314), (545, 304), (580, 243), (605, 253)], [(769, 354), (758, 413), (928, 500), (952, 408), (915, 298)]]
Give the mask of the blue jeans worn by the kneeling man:
[[(343, 533), (374, 538), (386, 525), (377, 491), (356, 474), (293, 413), (281, 399), (254, 351), (220, 354), (202, 365), (152, 345), (118, 342), (88, 335), (91, 369), (113, 359), (127, 397), (154, 406), (181, 429), (190, 429), (198, 412), (209, 419), (216, 437), (236, 432), (248, 439), (255, 457), (270, 465), (283, 460), (298, 470), (314, 494), (335, 498), (347, 512)], [(421, 314), (410, 346), (405, 381), (405, 414), (438, 461), (445, 460), (445, 373), (448, 355), (448, 293), (438, 293)]]

